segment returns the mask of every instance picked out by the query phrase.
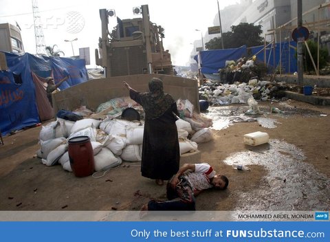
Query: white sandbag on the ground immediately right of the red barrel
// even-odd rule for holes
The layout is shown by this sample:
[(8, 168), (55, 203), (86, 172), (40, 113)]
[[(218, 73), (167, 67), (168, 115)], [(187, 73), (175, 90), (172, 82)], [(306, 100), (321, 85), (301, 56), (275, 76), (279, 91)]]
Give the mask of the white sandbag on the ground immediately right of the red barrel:
[(122, 164), (122, 159), (115, 157), (107, 147), (103, 147), (98, 155), (94, 156), (94, 169), (96, 171), (107, 170)]

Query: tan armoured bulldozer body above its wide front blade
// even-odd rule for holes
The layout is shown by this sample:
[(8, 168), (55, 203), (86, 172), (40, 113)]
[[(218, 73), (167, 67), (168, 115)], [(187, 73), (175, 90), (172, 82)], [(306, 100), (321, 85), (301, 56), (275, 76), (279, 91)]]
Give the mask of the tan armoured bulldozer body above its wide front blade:
[(135, 74), (174, 75), (170, 53), (164, 50), (164, 28), (151, 23), (148, 5), (133, 8), (142, 18), (120, 19), (109, 32), (109, 17), (114, 10), (100, 9), (102, 36), (95, 50), (96, 65), (104, 68), (104, 77)]

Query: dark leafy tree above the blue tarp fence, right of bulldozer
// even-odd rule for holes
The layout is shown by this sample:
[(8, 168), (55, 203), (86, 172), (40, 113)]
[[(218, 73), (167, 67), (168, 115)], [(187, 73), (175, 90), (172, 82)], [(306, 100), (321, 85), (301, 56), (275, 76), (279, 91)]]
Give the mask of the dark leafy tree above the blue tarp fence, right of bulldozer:
[[(237, 48), (242, 45), (253, 47), (263, 45), (263, 37), (261, 34), (261, 25), (254, 25), (253, 23), (240, 23), (239, 25), (232, 25), (231, 32), (223, 33), (223, 45), (225, 48)], [(215, 37), (208, 41), (205, 45), (207, 50), (221, 49), (221, 37)]]

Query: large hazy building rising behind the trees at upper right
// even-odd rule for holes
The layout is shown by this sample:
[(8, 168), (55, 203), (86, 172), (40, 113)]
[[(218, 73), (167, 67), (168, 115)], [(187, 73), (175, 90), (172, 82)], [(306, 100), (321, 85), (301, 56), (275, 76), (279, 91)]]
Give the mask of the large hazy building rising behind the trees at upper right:
[[(298, 0), (241, 0), (240, 3), (225, 7), (220, 11), (222, 32), (230, 31), (232, 25), (239, 25), (239, 23), (253, 23), (254, 25), (261, 25), (263, 30), (263, 37), (266, 41), (275, 40), (291, 41), (292, 30), (297, 26), (298, 15)], [(320, 8), (321, 5), (329, 6)], [(309, 29), (311, 33), (310, 39), (317, 41), (317, 33), (320, 32), (320, 42), (323, 46), (327, 46), (330, 53), (330, 0), (303, 0), (303, 25)], [(329, 24), (326, 22), (329, 20)], [(317, 28), (316, 23), (320, 28)], [(214, 26), (219, 25), (219, 14), (214, 17)], [(210, 27), (210, 26), (208, 26)], [(329, 30), (328, 30), (329, 28)], [(281, 33), (280, 33), (281, 32)], [(204, 36), (204, 44), (220, 34), (208, 33)], [(192, 50), (191, 56), (195, 53), (196, 46)], [(190, 63), (194, 62), (190, 58)]]

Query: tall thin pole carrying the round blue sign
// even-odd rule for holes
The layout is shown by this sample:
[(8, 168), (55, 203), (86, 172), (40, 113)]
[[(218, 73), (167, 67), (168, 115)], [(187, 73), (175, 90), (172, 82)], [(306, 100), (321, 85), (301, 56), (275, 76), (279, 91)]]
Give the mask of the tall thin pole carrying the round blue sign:
[[(297, 7), (298, 7), (298, 31), (299, 28), (303, 27), (303, 3), (302, 0), (297, 1)], [(298, 38), (297, 39), (297, 59), (298, 59), (298, 85), (303, 85), (303, 78), (304, 78), (304, 63), (303, 63), (303, 43), (305, 41), (305, 38)]]

